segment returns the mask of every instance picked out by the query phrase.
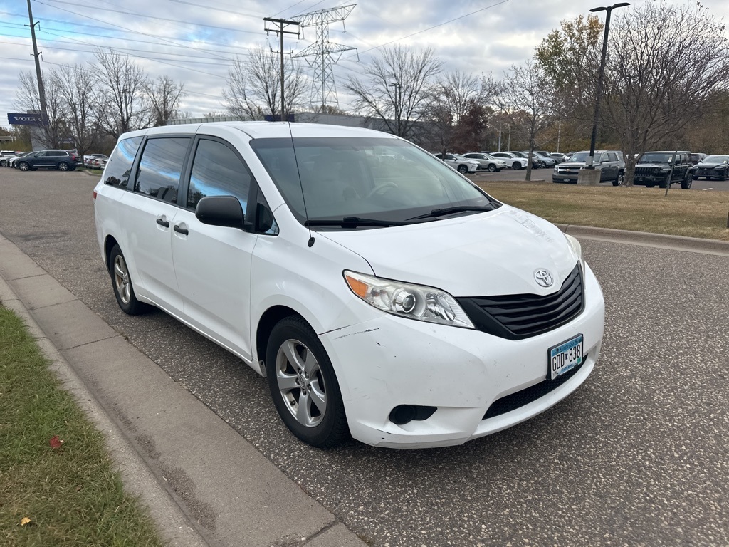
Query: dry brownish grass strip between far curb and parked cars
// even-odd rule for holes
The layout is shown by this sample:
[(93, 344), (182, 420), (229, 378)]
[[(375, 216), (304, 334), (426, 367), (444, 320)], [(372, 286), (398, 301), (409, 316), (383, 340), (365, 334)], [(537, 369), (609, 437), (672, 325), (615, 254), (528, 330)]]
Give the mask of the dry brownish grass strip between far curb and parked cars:
[(494, 198), (558, 224), (729, 241), (729, 192), (477, 182)]

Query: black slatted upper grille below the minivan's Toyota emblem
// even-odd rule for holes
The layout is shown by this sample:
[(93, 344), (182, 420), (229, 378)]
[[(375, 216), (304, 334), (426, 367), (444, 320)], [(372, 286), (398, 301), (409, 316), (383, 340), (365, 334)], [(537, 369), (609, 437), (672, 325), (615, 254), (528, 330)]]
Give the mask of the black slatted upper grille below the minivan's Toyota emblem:
[(551, 295), (505, 295), (456, 298), (478, 330), (521, 340), (564, 325), (585, 306), (580, 264)]

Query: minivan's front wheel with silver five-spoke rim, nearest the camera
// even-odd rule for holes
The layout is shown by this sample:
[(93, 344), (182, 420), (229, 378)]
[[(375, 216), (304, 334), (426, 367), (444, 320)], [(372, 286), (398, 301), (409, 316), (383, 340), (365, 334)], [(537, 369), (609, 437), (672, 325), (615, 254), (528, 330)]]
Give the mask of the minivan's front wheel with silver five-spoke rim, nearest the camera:
[(301, 441), (324, 449), (349, 437), (332, 362), (301, 317), (286, 317), (273, 327), (266, 379), (278, 415)]

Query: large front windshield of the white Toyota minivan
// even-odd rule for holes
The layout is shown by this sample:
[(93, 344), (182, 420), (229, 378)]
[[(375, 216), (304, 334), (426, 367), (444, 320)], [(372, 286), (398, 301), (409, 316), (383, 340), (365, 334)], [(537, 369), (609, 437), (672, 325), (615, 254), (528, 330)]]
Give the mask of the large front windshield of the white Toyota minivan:
[(499, 205), (443, 161), (399, 139), (254, 139), (251, 146), (300, 222), (403, 221), (433, 209)]

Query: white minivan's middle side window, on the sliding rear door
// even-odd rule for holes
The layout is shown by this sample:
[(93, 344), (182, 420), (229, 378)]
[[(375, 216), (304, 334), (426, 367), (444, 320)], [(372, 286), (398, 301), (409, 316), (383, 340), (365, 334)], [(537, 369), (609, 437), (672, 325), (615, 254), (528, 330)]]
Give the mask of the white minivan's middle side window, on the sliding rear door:
[(189, 144), (190, 137), (149, 139), (141, 154), (134, 190), (176, 203)]

